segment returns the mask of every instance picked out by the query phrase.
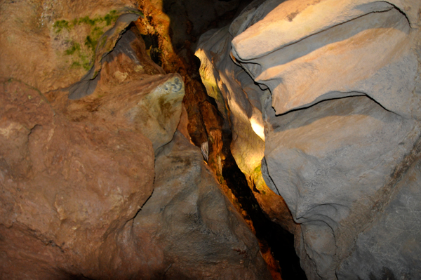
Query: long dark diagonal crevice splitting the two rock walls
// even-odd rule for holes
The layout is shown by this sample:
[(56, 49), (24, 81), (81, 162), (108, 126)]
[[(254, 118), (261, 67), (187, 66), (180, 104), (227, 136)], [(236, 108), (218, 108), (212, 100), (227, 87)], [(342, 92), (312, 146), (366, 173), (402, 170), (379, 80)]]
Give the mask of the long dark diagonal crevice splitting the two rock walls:
[[(245, 0), (243, 4), (246, 5), (246, 2), (250, 1)], [(246, 222), (249, 225), (253, 224), (250, 227), (255, 229), (256, 237), (260, 241), (260, 250), (262, 255), (265, 254), (263, 258), (272, 276), (279, 279), (279, 271), (276, 269), (279, 270), (280, 267), (283, 280), (307, 279), (295, 253), (293, 234), (267, 218), (253, 194), (253, 189), (256, 193), (258, 189), (248, 185), (246, 176), (236, 165), (230, 151), (232, 131), (229, 128), (229, 120), (224, 119), (215, 100), (207, 95), (199, 74), (200, 60), (194, 56), (196, 39), (208, 29), (225, 26), (242, 8), (232, 8), (222, 15), (215, 15), (212, 19), (203, 17), (204, 22), (199, 22), (197, 18), (196, 21), (194, 17), (189, 18), (187, 4), (187, 1), (163, 1), (163, 12), (170, 18), (168, 34), (161, 34), (160, 29), (156, 28), (161, 27), (163, 21), (146, 18), (149, 20), (147, 24), (154, 27), (146, 32), (149, 35), (143, 36), (146, 48), (151, 50), (152, 60), (162, 65), (166, 72), (178, 72), (182, 75), (185, 82), (183, 105), (188, 114), (187, 129), (190, 138), (197, 147), (208, 141), (208, 166), (215, 173), (229, 200), (246, 218)], [(198, 11), (199, 15), (211, 12), (213, 11)], [(153, 58), (152, 49), (165, 46), (166, 38), (171, 39), (172, 50), (163, 49), (159, 60), (158, 56)]]

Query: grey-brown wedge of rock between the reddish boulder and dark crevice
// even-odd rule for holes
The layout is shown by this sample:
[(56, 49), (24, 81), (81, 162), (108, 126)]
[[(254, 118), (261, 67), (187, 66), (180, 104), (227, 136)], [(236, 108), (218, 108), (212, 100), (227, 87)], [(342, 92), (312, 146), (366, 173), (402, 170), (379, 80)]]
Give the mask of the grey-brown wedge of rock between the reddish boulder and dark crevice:
[[(156, 156), (154, 193), (133, 221), (150, 240), (146, 279), (271, 279), (255, 236), (229, 203), (199, 148), (180, 132)], [(147, 259), (146, 256), (143, 258)], [(145, 260), (146, 261), (146, 260)]]

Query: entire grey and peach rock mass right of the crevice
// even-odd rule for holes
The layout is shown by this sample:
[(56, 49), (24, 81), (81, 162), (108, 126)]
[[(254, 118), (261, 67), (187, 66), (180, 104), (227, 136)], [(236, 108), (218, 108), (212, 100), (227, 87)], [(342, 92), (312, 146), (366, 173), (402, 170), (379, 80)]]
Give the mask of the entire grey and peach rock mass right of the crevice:
[[(299, 224), (286, 227), (309, 279), (421, 277), (420, 11), (419, 1), (253, 1), (201, 37), (203, 84), (250, 178), (242, 163), (262, 154), (251, 143), (265, 128), (262, 175)], [(283, 212), (258, 201), (272, 219)]]

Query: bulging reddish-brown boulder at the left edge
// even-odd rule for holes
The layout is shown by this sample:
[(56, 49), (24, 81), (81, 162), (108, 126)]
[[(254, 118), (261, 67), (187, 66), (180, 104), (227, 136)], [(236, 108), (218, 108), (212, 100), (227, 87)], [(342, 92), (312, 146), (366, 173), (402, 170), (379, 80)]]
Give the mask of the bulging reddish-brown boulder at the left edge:
[(102, 120), (70, 122), (22, 82), (1, 90), (3, 279), (98, 276), (105, 237), (152, 194), (151, 142)]

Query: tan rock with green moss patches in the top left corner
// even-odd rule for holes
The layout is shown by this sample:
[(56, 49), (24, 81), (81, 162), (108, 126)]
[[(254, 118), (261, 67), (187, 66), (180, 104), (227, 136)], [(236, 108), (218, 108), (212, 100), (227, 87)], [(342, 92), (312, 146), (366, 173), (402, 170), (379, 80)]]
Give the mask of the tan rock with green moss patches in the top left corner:
[[(3, 0), (0, 15), (0, 76), (46, 92), (79, 81), (98, 60), (96, 47), (118, 39), (119, 32), (107, 32), (121, 31), (140, 12), (133, 0)], [(119, 15), (131, 19), (116, 22)]]

